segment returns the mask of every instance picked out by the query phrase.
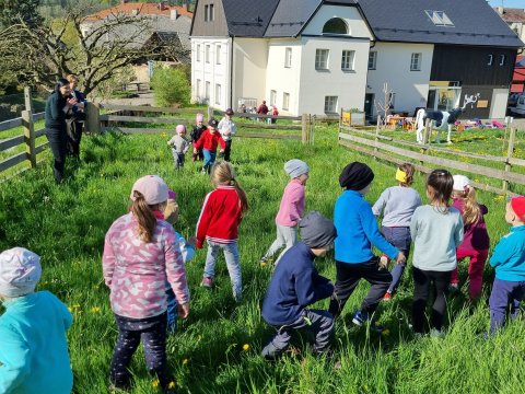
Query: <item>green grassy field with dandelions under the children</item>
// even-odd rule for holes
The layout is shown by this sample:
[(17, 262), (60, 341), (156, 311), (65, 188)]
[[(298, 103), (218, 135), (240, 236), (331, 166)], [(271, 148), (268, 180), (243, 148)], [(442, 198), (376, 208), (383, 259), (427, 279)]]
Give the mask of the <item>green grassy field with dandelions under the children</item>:
[[(192, 234), (200, 205), (211, 190), (207, 176), (191, 161), (173, 170), (166, 135), (105, 134), (83, 139), (82, 162), (67, 164), (69, 179), (56, 186), (48, 161), (35, 171), (12, 178), (0, 188), (0, 247), (27, 247), (42, 256), (39, 290), (56, 293), (74, 314), (68, 338), (74, 371), (74, 393), (107, 392), (108, 367), (117, 329), (109, 294), (102, 278), (101, 254), (110, 223), (127, 211), (132, 183), (144, 174), (159, 174), (178, 194), (182, 208), (175, 228)], [(460, 148), (462, 144), (457, 144)], [(376, 177), (366, 197), (374, 202), (395, 184), (395, 169), (337, 146), (334, 127), (318, 128), (315, 147), (299, 141), (236, 139), (232, 159), (245, 188), (250, 210), (240, 229), (244, 301), (236, 305), (223, 258), (218, 263), (217, 287), (198, 285), (206, 250), (187, 265), (191, 291), (190, 316), (168, 338), (170, 370), (182, 393), (521, 393), (525, 392), (525, 326), (512, 322), (498, 336), (483, 340), (489, 323), (487, 299), (493, 271), (486, 268), (483, 297), (466, 304), (466, 287), (451, 299), (447, 335), (443, 339), (415, 339), (408, 328), (412, 282), (410, 270), (399, 293), (378, 309), (383, 334), (352, 325), (351, 316), (368, 291), (360, 283), (337, 321), (335, 355), (316, 359), (306, 351), (267, 363), (259, 356), (272, 334), (260, 317), (260, 303), (271, 276), (259, 258), (275, 236), (275, 215), (288, 178), (283, 163), (305, 160), (312, 169), (307, 209), (332, 217), (340, 194), (338, 176), (351, 161), (366, 162)], [(423, 176), (416, 181), (422, 193)], [(491, 246), (508, 232), (504, 198), (480, 193), (489, 207)], [(320, 273), (335, 278), (332, 255), (317, 262)], [(466, 265), (460, 267), (466, 277)], [(327, 301), (318, 308), (327, 308)], [(337, 361), (340, 368), (335, 369)], [(132, 393), (155, 393), (140, 350), (132, 363)]]

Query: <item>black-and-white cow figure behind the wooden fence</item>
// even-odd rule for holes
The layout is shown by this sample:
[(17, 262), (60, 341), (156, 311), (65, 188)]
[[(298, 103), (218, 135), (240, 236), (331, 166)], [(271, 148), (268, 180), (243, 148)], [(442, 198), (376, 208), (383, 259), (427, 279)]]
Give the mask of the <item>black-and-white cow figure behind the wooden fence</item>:
[(438, 137), (435, 138), (435, 141), (438, 143), (441, 142), (441, 132), (445, 129), (448, 130), (448, 134), (446, 136), (446, 142), (452, 143), (452, 126), (456, 123), (457, 118), (465, 112), (467, 105), (474, 105), (474, 103), (478, 101), (478, 97), (479, 93), (472, 94), (470, 96), (465, 94), (463, 107), (454, 108), (451, 112), (424, 108), (419, 109), (416, 114), (416, 125), (418, 126), (418, 130), (416, 131), (416, 138), (418, 140), (418, 143), (423, 143), (423, 131), (427, 119), (431, 120), (430, 127), (438, 130)]

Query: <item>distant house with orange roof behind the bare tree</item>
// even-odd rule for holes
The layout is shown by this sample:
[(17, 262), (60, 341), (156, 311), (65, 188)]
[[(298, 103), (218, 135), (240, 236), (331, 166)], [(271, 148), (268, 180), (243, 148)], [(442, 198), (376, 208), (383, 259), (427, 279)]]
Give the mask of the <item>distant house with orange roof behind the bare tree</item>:
[(108, 32), (101, 42), (112, 42), (116, 37), (133, 37), (127, 45), (130, 48), (164, 46), (170, 49), (166, 50), (167, 56), (139, 60), (135, 66), (138, 81), (149, 81), (152, 61), (190, 63), (189, 30), (192, 13), (188, 11), (187, 4), (175, 7), (167, 5), (166, 2), (122, 2), (85, 18), (81, 24), (82, 34), (86, 36), (90, 31), (115, 20), (117, 15), (141, 18), (148, 23), (148, 28), (138, 32), (135, 26), (120, 25)]

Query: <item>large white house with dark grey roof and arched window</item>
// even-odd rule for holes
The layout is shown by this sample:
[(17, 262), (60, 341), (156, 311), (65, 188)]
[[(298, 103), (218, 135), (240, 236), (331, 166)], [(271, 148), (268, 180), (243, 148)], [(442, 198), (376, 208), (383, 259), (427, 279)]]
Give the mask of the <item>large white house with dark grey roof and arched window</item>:
[[(394, 111), (503, 117), (523, 43), (485, 0), (198, 0), (192, 99), (218, 108), (253, 99), (282, 114)], [(436, 9), (439, 7), (439, 9)], [(480, 28), (482, 26), (482, 28)]]

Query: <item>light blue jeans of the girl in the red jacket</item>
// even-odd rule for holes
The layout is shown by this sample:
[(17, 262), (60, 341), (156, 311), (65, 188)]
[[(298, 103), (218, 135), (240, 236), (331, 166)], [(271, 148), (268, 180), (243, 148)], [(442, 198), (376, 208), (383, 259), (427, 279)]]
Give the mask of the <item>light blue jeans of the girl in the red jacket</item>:
[[(206, 150), (205, 150), (206, 152)], [(238, 260), (237, 242), (228, 244), (218, 243), (208, 240), (208, 254), (206, 256), (205, 277), (213, 278), (215, 276), (215, 260), (219, 250), (223, 250), (226, 260), (228, 273), (232, 281), (233, 297), (240, 301), (242, 296), (241, 264)]]

